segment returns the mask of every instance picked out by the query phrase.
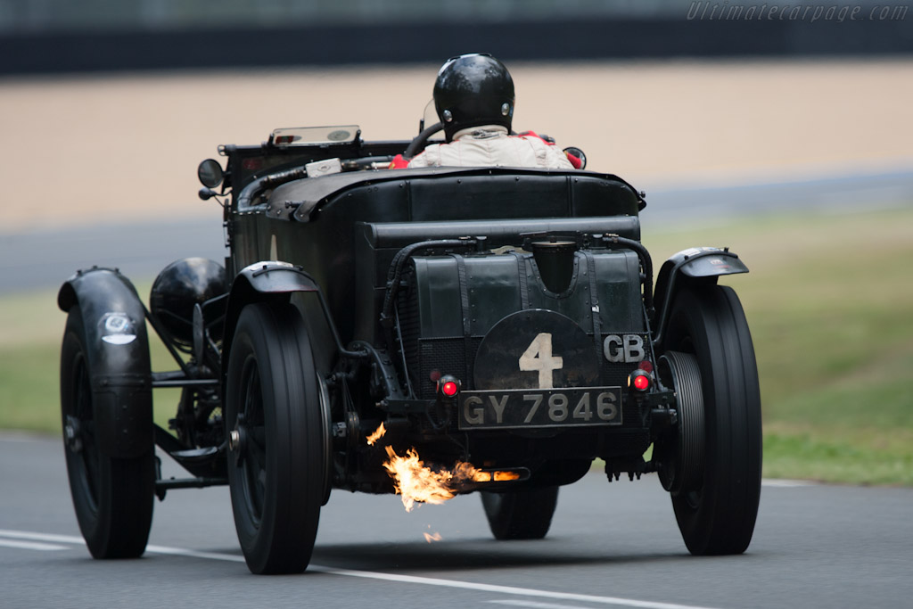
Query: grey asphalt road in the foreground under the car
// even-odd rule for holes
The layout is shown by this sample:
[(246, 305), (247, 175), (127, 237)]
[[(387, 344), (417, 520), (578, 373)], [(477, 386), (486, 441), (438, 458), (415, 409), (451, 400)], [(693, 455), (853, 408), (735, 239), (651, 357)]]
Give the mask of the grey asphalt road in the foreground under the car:
[(765, 486), (749, 551), (714, 558), (687, 554), (651, 477), (562, 488), (544, 541), (494, 541), (476, 496), (406, 513), (396, 497), (334, 491), (310, 570), (266, 577), (247, 572), (226, 488), (171, 491), (145, 556), (115, 562), (91, 560), (81, 542), (57, 439), (0, 436), (0, 484), (5, 609), (855, 609), (913, 598), (909, 488)]

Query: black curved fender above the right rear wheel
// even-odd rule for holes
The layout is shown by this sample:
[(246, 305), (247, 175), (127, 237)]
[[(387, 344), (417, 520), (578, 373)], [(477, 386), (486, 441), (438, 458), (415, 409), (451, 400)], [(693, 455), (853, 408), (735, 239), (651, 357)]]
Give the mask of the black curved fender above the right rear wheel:
[(669, 257), (656, 278), (654, 301), (658, 308), (653, 326), (654, 345), (660, 345), (663, 340), (668, 313), (678, 290), (701, 283), (713, 285), (724, 275), (747, 272), (745, 263), (728, 247), (691, 247)]

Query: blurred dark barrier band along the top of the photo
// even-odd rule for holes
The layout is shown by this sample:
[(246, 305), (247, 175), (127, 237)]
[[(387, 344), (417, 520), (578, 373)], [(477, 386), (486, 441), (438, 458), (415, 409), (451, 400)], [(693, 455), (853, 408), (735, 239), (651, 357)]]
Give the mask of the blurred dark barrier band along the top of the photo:
[(0, 0), (0, 74), (913, 53), (892, 0)]

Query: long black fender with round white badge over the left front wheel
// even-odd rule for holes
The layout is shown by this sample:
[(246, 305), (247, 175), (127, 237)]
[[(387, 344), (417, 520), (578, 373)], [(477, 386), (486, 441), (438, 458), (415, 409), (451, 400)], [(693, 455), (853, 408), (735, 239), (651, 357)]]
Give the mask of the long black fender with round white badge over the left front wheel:
[(117, 269), (80, 270), (60, 287), (58, 307), (79, 307), (82, 315), (100, 451), (115, 458), (144, 455), (154, 446), (152, 366), (136, 289)]

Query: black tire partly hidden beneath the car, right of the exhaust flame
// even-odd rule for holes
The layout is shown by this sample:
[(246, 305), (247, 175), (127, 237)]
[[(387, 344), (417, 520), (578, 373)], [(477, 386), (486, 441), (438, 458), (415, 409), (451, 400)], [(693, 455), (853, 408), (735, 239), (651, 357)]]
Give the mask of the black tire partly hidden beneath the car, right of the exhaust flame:
[(481, 491), (488, 526), (496, 540), (540, 540), (549, 532), (558, 487)]

